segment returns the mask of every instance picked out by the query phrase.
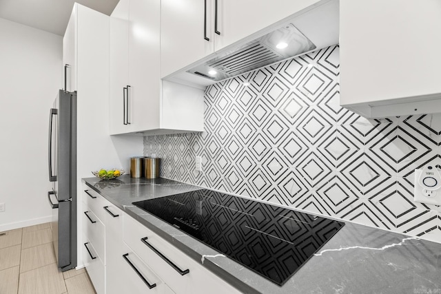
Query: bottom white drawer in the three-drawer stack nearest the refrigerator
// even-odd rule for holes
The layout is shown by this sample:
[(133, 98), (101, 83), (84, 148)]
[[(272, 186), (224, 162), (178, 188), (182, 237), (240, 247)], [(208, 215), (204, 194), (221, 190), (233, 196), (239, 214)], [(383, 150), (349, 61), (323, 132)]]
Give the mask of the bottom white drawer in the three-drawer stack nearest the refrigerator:
[(105, 284), (104, 284), (104, 264), (98, 258), (96, 251), (92, 242), (85, 242), (83, 244), (83, 260), (85, 269), (88, 271), (90, 280), (92, 284), (94, 284), (95, 290), (97, 294), (105, 293)]

